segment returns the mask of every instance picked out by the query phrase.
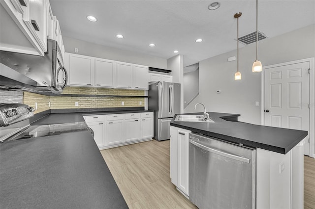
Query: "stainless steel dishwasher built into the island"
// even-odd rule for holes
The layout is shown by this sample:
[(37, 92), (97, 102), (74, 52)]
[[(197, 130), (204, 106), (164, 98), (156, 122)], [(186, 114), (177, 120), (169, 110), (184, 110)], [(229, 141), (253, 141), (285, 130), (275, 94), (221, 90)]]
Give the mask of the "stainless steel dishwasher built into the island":
[(199, 209), (254, 209), (256, 150), (189, 134), (189, 199)]

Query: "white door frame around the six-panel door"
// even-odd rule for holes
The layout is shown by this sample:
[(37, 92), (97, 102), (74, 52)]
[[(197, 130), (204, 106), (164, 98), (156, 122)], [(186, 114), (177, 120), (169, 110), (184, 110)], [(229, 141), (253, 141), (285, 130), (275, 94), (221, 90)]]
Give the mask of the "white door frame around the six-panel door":
[(261, 72), (261, 125), (265, 125), (265, 113), (264, 113), (264, 105), (265, 105), (265, 69), (266, 68), (273, 68), (273, 67), (280, 67), (284, 65), (291, 65), (291, 64), (298, 64), (301, 62), (310, 62), (310, 157), (315, 158), (314, 153), (314, 126), (315, 126), (315, 58), (307, 58), (307, 59), (300, 59), (290, 62), (284, 62), (274, 65), (267, 65), (263, 66)]

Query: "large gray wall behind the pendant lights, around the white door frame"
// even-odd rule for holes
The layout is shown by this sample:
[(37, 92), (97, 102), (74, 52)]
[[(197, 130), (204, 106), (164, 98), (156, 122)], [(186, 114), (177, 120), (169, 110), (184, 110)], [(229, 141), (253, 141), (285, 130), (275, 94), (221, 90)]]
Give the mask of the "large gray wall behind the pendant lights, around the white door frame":
[[(235, 42), (236, 45), (236, 42)], [(239, 50), (239, 70), (242, 80), (234, 80), (236, 61), (227, 58), (236, 50), (199, 62), (199, 96), (185, 112), (201, 112), (193, 105), (202, 102), (208, 111), (239, 113), (240, 121), (261, 123), (261, 73), (252, 73), (255, 44)], [(259, 41), (258, 58), (263, 66), (315, 57), (315, 25), (303, 27), (278, 37)], [(216, 90), (221, 90), (217, 94)], [(259, 106), (255, 106), (255, 101)]]

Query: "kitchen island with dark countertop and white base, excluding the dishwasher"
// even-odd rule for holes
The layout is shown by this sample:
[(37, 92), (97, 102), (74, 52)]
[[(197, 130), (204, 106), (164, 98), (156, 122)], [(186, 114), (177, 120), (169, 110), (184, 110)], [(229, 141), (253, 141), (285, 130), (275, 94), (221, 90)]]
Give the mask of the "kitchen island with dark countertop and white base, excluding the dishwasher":
[(170, 123), (171, 179), (179, 191), (189, 198), (189, 133), (193, 132), (255, 150), (255, 208), (303, 208), (307, 131), (237, 122), (239, 114), (208, 113), (214, 123), (175, 121), (176, 116)]

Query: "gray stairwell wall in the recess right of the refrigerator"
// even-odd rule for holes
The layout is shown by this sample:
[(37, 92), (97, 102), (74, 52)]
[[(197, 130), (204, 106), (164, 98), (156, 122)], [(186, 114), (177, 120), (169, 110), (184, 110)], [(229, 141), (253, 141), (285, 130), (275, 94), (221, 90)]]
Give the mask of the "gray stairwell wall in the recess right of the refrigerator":
[(184, 109), (189, 101), (199, 93), (199, 68), (184, 74)]

